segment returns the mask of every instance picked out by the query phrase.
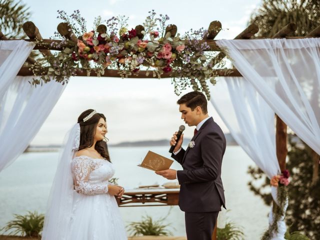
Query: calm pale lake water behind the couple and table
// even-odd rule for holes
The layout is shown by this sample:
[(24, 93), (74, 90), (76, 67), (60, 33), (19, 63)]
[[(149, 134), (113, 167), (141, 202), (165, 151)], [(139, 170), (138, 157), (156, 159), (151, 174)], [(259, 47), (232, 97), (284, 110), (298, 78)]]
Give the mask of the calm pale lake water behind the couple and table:
[[(170, 157), (168, 147), (109, 147), (111, 161), (115, 167), (114, 177), (125, 189), (139, 185), (163, 184), (165, 178), (153, 171), (136, 166), (148, 150)], [(0, 172), (0, 228), (13, 218), (13, 214), (24, 214), (27, 210), (44, 213), (51, 183), (56, 169), (58, 152), (29, 152), (20, 155), (15, 162)], [(227, 146), (222, 162), (222, 181), (225, 189), (226, 207), (218, 224), (227, 218), (242, 226), (245, 239), (260, 239), (267, 227), (266, 206), (260, 197), (249, 191), (250, 176), (247, 166), (253, 161), (239, 146)], [(181, 169), (173, 162), (171, 168)], [(120, 207), (125, 224), (137, 221), (148, 214), (158, 219), (167, 214), (169, 206)], [(184, 213), (178, 206), (171, 207), (166, 218), (174, 235), (185, 235)]]

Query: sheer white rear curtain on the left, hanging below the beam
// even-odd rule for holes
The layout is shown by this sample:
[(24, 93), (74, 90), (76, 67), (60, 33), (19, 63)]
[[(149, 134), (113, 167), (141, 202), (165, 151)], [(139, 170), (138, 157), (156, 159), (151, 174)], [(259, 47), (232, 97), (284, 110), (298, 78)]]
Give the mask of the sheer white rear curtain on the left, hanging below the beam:
[(25, 150), (65, 87), (55, 81), (34, 87), (31, 80), (16, 76), (0, 102), (0, 171)]

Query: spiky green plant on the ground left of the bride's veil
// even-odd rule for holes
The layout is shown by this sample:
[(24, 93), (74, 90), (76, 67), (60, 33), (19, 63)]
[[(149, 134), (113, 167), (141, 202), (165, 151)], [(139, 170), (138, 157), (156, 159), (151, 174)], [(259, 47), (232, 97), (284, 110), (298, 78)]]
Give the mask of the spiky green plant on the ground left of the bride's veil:
[(9, 235), (20, 234), (22, 236), (38, 237), (43, 228), (44, 215), (38, 214), (36, 211), (28, 211), (25, 215), (14, 214), (15, 219), (6, 223), (1, 228)]

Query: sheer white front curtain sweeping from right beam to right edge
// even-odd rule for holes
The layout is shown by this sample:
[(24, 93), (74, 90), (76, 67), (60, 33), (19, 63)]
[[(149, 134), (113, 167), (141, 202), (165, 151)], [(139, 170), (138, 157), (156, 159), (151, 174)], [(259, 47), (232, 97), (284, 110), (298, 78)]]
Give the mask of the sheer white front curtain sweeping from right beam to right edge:
[(217, 44), (272, 110), (320, 154), (320, 38)]

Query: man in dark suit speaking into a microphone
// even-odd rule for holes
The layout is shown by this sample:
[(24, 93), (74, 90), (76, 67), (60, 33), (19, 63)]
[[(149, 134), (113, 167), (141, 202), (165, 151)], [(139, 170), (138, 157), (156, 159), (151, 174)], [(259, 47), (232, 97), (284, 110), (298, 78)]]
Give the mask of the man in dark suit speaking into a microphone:
[(179, 207), (185, 212), (187, 239), (211, 240), (221, 205), (225, 208), (221, 181), (225, 137), (221, 128), (208, 116), (203, 93), (186, 93), (177, 104), (184, 122), (196, 126), (186, 150), (181, 148), (183, 134), (176, 142), (175, 132), (170, 141), (175, 145), (171, 157), (182, 165), (183, 170), (167, 169), (155, 173), (179, 181)]

